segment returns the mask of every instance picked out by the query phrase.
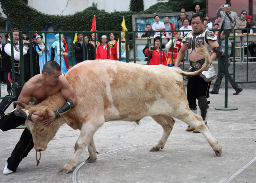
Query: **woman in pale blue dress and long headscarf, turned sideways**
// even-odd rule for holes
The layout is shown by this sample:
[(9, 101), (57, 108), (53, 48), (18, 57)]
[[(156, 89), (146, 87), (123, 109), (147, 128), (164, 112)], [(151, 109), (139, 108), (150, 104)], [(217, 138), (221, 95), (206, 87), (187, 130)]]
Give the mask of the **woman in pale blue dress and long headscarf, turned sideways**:
[[(64, 60), (64, 56), (67, 57), (68, 53), (64, 53), (64, 47), (63, 47), (63, 43), (61, 41), (61, 46), (60, 46), (60, 34), (56, 34), (54, 36), (55, 40), (54, 43), (52, 44), (52, 47), (55, 49), (55, 61), (61, 65), (61, 74), (65, 75), (67, 73), (67, 67), (65, 65), (65, 60)], [(60, 55), (60, 47), (61, 47), (61, 57), (59, 57)]]

